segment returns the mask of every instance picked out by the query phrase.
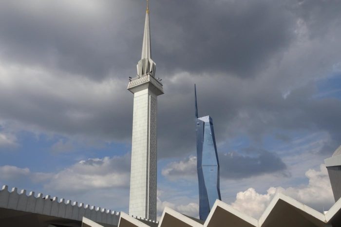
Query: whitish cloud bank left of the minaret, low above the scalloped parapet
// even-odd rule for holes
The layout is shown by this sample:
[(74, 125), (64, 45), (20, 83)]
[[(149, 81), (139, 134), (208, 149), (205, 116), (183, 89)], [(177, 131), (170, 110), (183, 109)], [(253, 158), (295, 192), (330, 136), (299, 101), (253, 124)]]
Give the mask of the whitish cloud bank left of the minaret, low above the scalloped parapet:
[(55, 193), (72, 194), (92, 189), (128, 188), (130, 156), (92, 158), (82, 160), (57, 173), (32, 172), (16, 166), (0, 167), (0, 180), (11, 183), (20, 179), (42, 183)]

